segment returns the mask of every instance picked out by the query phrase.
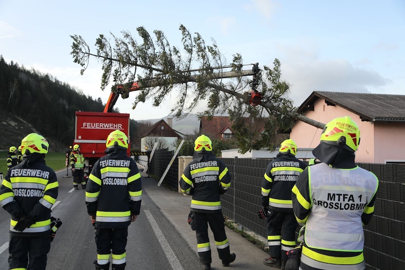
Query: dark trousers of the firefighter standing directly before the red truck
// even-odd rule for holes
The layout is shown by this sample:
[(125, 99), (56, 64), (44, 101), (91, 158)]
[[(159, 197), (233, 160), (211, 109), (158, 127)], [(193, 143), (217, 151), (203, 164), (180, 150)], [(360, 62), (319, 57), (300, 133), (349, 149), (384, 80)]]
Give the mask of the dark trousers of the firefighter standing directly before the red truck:
[(96, 229), (97, 263), (107, 264), (112, 251), (112, 263), (126, 263), (128, 227), (120, 229)]

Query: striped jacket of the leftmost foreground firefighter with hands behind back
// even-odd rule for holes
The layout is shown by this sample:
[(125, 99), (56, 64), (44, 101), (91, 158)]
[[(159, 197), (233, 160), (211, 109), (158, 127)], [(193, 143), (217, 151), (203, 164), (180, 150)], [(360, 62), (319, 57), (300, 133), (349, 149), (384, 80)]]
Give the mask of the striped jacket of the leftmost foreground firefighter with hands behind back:
[[(55, 171), (46, 166), (44, 154), (24, 156), (11, 168), (0, 188), (0, 206), (11, 214), (10, 234), (30, 237), (49, 233), (58, 186)], [(18, 220), (28, 214), (35, 223), (23, 232), (15, 230)]]

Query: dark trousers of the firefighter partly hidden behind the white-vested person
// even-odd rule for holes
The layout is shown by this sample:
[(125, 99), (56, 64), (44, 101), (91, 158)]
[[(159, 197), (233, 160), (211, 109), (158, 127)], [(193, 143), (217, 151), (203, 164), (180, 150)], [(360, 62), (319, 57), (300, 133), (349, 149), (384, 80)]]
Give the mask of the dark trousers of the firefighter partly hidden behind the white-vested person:
[(267, 243), (270, 256), (281, 257), (281, 260), (287, 261), (287, 251), (296, 246), (297, 220), (293, 213), (274, 210), (270, 212), (271, 215), (267, 215)]

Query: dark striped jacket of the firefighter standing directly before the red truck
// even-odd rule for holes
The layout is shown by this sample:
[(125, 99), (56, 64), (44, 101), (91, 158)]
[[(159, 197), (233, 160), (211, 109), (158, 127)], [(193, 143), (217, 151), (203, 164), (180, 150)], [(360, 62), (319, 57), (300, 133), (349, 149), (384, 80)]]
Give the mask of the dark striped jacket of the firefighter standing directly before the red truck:
[(89, 176), (87, 212), (96, 215), (97, 228), (125, 228), (131, 214), (139, 215), (141, 209), (141, 174), (125, 148), (107, 148), (106, 153)]

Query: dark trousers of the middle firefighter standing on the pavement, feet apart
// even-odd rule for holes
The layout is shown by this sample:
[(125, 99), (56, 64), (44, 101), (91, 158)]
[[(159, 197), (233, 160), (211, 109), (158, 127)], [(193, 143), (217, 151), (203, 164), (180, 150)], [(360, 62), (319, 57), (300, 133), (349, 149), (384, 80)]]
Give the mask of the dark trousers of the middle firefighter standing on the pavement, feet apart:
[(214, 234), (219, 258), (221, 260), (227, 260), (230, 252), (228, 239), (225, 234), (225, 220), (222, 211), (212, 214), (193, 212), (193, 214), (200, 262), (212, 262), (210, 239), (208, 238), (208, 224), (210, 224), (210, 228)]

